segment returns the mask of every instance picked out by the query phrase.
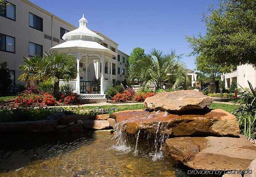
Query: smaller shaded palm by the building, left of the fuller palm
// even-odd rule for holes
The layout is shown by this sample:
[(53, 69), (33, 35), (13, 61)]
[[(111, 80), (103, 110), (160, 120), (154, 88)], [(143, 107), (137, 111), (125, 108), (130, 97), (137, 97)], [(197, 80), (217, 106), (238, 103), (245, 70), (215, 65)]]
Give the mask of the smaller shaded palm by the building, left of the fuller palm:
[(23, 73), (18, 77), (18, 79), (22, 82), (26, 82), (26, 85), (30, 87), (39, 82), (39, 80), (35, 78), (35, 74), (38, 71), (39, 64), (42, 62), (42, 57), (24, 57), (23, 62), (24, 64), (19, 66), (19, 70)]

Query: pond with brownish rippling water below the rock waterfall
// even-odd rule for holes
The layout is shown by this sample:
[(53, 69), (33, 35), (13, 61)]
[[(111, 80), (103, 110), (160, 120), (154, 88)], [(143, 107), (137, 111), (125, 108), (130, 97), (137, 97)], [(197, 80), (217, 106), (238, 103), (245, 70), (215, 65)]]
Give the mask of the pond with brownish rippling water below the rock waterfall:
[(0, 138), (0, 176), (187, 176), (165, 158), (114, 150), (110, 131)]

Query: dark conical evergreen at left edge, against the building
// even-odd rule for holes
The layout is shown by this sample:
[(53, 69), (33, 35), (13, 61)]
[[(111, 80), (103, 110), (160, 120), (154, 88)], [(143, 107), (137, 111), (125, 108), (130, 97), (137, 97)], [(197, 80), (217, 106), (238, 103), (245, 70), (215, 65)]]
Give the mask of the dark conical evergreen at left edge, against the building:
[(4, 95), (7, 94), (12, 85), (12, 79), (6, 60), (3, 60), (0, 64), (0, 76), (0, 95)]

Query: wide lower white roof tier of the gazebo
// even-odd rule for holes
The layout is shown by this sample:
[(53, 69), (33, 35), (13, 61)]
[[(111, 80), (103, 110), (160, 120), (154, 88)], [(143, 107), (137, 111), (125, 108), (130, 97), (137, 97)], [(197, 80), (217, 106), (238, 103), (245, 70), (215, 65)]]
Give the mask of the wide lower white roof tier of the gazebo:
[(55, 49), (69, 49), (69, 48), (79, 48), (79, 49), (88, 49), (88, 50), (97, 50), (102, 52), (107, 52), (111, 54), (113, 57), (117, 56), (115, 52), (100, 45), (94, 41), (87, 41), (87, 40), (69, 40), (59, 45), (56, 45), (51, 48), (51, 50)]

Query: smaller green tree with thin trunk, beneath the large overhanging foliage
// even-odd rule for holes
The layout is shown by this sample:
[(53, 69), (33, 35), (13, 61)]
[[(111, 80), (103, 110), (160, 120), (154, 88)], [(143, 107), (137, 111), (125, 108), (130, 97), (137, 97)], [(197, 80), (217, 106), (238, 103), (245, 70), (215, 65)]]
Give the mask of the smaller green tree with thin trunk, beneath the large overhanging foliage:
[[(218, 63), (213, 63), (208, 57), (204, 55), (197, 56), (195, 60), (195, 64), (197, 66), (198, 71), (201, 71), (209, 75), (213, 81), (215, 81), (216, 76), (220, 75), (221, 73), (226, 73), (231, 71), (231, 66), (219, 65)], [(213, 90), (216, 91), (215, 82), (213, 82)]]

